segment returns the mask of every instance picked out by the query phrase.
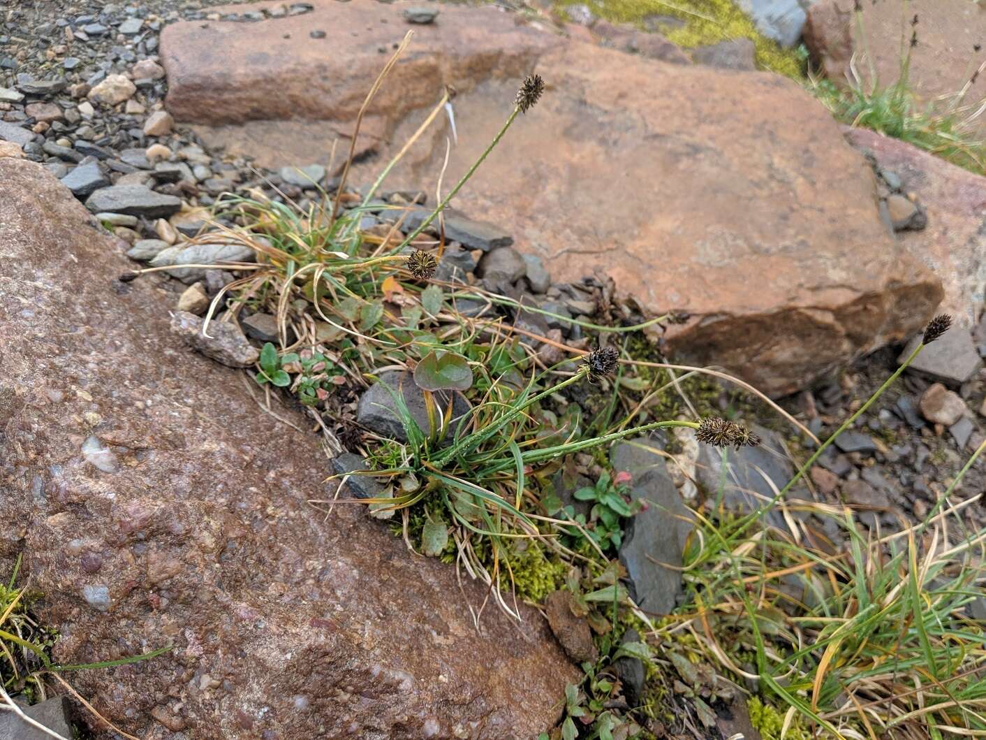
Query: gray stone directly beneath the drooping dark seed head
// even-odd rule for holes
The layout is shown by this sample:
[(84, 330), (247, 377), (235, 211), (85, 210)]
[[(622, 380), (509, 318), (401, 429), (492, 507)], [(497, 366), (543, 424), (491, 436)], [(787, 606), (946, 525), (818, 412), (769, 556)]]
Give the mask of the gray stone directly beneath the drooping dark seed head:
[[(727, 450), (725, 485), (721, 483), (724, 471), (720, 449), (702, 443), (698, 446), (695, 473), (699, 486), (707, 499), (717, 501), (722, 496), (724, 506), (733, 511), (750, 512), (761, 508), (794, 477), (794, 467), (784, 452), (781, 438), (759, 426), (754, 426), (753, 431), (762, 440), (758, 447)], [(801, 485), (788, 493), (789, 499), (807, 497), (808, 491)], [(779, 529), (788, 529), (784, 516), (776, 508), (766, 515), (766, 520)]]

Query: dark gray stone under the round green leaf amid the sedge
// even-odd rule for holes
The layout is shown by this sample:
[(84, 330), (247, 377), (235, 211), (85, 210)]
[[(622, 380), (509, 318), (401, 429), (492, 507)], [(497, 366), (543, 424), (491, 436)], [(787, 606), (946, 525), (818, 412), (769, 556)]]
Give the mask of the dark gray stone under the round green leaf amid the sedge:
[[(387, 388), (390, 390), (388, 391)], [(411, 418), (425, 436), (428, 436), (430, 429), (424, 392), (415, 385), (414, 378), (407, 371), (390, 370), (381, 375), (380, 380), (360, 398), (356, 409), (356, 420), (371, 431), (406, 442), (407, 435), (394, 404), (394, 395), (398, 393), (403, 396)], [(449, 406), (450, 394), (439, 391), (434, 397), (441, 413), (445, 413), (445, 409)], [(446, 429), (446, 436), (455, 432), (458, 420), (469, 411), (469, 404), (461, 394), (452, 395), (452, 405), (452, 421)]]

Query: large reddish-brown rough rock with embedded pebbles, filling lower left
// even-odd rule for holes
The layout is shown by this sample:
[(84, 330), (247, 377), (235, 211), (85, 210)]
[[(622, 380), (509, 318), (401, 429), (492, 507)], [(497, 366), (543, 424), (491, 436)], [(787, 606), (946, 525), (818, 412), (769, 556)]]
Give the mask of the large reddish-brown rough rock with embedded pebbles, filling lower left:
[(157, 739), (550, 726), (578, 673), (543, 620), (486, 610), (477, 633), (484, 588), (354, 507), (313, 509), (333, 493), (317, 436), (189, 353), (156, 278), (116, 280), (124, 249), (40, 165), (0, 160), (0, 517), (19, 523), (0, 572), (23, 553), (56, 661), (174, 646), (74, 673), (79, 693)]

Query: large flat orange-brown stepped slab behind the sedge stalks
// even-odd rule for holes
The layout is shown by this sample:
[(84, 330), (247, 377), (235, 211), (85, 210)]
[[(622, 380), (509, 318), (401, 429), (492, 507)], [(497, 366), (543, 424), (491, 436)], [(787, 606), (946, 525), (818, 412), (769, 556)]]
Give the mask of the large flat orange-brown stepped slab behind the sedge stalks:
[[(313, 5), (296, 19), (170, 25), (169, 110), (227, 125), (323, 118), (324, 138), (303, 140), (329, 151), (380, 71), (377, 49), (402, 37), (404, 5)], [(310, 38), (313, 27), (327, 37)], [(941, 300), (938, 278), (880, 222), (865, 159), (795, 83), (557, 37), (492, 7), (443, 6), (415, 27), (367, 118), (378, 156), (352, 177), (372, 182), (449, 84), (455, 182), (530, 72), (547, 82), (541, 102), (456, 206), (501, 225), (558, 281), (600, 271), (648, 312), (689, 312), (665, 335), (671, 353), (782, 395), (917, 331)], [(434, 191), (451, 133), (444, 117), (437, 125), (388, 187)], [(295, 161), (286, 152), (282, 164)]]

